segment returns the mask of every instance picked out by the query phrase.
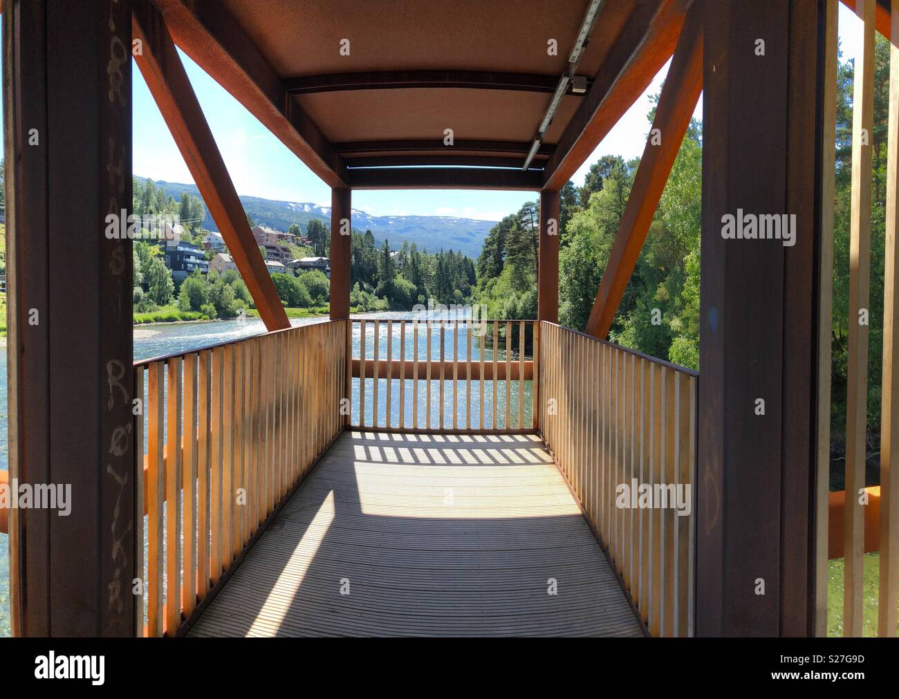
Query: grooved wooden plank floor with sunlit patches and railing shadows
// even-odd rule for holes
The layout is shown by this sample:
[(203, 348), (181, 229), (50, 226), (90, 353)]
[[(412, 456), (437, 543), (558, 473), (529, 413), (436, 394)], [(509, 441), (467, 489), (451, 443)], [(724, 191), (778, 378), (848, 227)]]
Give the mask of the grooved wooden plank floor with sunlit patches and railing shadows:
[(538, 437), (346, 431), (191, 635), (642, 633)]

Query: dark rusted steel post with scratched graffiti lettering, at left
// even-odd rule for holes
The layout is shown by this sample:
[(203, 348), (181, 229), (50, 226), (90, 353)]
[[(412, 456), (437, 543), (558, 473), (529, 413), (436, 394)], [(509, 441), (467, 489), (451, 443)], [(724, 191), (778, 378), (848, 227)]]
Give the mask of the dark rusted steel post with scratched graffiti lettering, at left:
[(13, 633), (130, 636), (131, 3), (3, 9)]

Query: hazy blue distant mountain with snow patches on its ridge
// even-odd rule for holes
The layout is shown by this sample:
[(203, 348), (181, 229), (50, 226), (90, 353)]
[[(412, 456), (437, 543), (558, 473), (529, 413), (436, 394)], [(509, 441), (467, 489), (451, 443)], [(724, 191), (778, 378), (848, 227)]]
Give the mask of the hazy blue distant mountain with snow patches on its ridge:
[[(154, 182), (156, 187), (165, 189), (175, 200), (180, 199), (184, 191), (194, 197), (200, 197), (200, 191), (193, 184), (163, 180)], [(286, 231), (290, 224), (295, 223), (305, 232), (309, 221), (313, 218), (321, 219), (329, 225), (331, 222), (331, 207), (260, 197), (241, 197), (240, 201), (254, 221), (280, 231)], [(355, 230), (365, 233), (369, 229), (378, 245), (387, 239), (394, 250), (398, 250), (403, 241), (409, 241), (410, 244), (415, 243), (420, 250), (437, 252), (442, 248), (461, 251), (469, 257), (476, 258), (481, 253), (481, 244), (484, 243), (487, 232), (495, 225), (496, 221), (446, 216), (369, 216), (358, 208), (352, 209), (352, 227)], [(209, 211), (203, 219), (203, 227), (210, 231), (218, 231), (218, 226), (209, 216)]]

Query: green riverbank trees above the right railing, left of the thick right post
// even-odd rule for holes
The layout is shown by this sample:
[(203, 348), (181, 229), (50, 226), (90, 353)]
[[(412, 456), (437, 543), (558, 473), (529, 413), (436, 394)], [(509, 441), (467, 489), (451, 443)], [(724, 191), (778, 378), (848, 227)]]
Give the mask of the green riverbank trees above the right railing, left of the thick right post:
[[(653, 116), (650, 112), (650, 123)], [(591, 165), (582, 187), (569, 181), (559, 193), (559, 323), (567, 327), (583, 330), (590, 315), (638, 164), (638, 159), (604, 155)], [(694, 120), (609, 338), (694, 369), (699, 368), (701, 183), (702, 131)], [(538, 221), (537, 202), (528, 202), (487, 235), (475, 289), (486, 317), (536, 317)], [(661, 323), (653, 323), (654, 315)]]

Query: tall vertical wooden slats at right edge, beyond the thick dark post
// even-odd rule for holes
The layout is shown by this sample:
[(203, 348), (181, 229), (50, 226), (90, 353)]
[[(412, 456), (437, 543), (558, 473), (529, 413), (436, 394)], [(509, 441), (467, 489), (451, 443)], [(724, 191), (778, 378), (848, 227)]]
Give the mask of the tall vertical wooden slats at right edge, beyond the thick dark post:
[[(826, 4), (825, 57), (822, 110), (821, 279), (818, 320), (818, 432), (816, 492), (815, 635), (828, 630), (831, 582), (828, 559), (843, 559), (842, 631), (861, 636), (867, 600), (877, 597), (877, 634), (895, 636), (899, 606), (899, 474), (895, 445), (899, 443), (899, 4), (892, 15), (874, 2), (849, 2), (860, 22), (854, 22), (857, 47), (852, 88), (852, 161), (849, 241), (848, 355), (846, 360), (845, 492), (830, 493), (832, 310), (834, 276), (835, 140), (837, 124), (838, 27), (835, 0)], [(871, 279), (871, 218), (874, 168), (875, 93), (879, 89), (875, 61), (876, 29), (892, 34), (889, 58), (889, 113), (886, 128), (886, 241), (884, 249), (883, 355), (880, 388), (880, 487), (877, 498), (866, 488), (868, 466), (868, 352)], [(845, 28), (851, 31), (850, 27)], [(875, 207), (877, 209), (877, 207)], [(876, 241), (877, 238), (874, 238)], [(875, 268), (877, 269), (877, 268)], [(838, 270), (845, 275), (846, 270)], [(868, 316), (871, 316), (870, 318)], [(838, 391), (840, 393), (840, 391)], [(834, 513), (832, 505), (842, 506)], [(875, 512), (877, 508), (877, 513)], [(834, 525), (842, 526), (835, 532)], [(866, 565), (876, 562), (864, 555), (879, 550), (877, 594), (868, 590)], [(872, 605), (873, 606), (873, 605)], [(839, 613), (839, 607), (834, 610)]]

